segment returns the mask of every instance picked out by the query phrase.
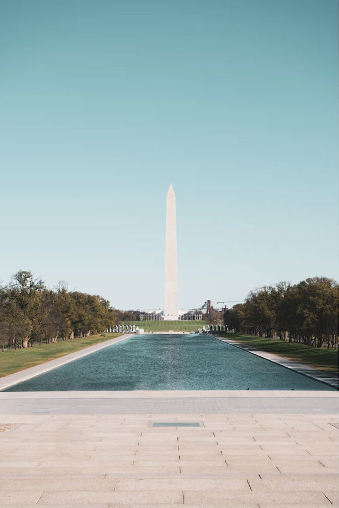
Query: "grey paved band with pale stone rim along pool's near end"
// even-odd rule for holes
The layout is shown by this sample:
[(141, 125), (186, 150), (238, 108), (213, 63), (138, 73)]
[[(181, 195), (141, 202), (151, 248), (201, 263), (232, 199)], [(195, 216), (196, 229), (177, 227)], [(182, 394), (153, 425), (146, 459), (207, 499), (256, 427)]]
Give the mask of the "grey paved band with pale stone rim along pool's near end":
[(336, 392), (0, 392), (2, 414), (337, 414)]

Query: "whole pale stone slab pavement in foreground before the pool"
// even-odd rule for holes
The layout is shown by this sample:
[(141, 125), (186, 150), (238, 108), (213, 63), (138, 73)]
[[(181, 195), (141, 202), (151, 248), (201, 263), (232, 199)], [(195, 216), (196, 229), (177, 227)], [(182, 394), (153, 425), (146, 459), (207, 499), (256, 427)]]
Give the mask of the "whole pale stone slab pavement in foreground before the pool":
[[(187, 409), (205, 403), (208, 393), (211, 401), (232, 400), (232, 412)], [(0, 394), (0, 505), (338, 506), (337, 415), (328, 411), (335, 393), (163, 395)], [(141, 414), (140, 402), (152, 408), (152, 397), (163, 405), (167, 398), (172, 407), (176, 398), (177, 412)], [(138, 414), (131, 414), (137, 399)], [(277, 399), (285, 403), (284, 414), (273, 404)], [(103, 401), (101, 414), (90, 414), (93, 400)], [(249, 411), (246, 401), (256, 400), (261, 412)], [(117, 414), (124, 404), (127, 412)]]

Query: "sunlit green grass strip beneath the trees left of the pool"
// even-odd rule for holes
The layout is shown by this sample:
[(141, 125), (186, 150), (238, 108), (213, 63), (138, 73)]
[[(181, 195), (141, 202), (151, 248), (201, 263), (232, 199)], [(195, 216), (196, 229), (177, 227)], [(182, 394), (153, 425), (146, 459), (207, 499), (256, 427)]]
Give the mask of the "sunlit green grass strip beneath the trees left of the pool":
[(0, 377), (12, 374), (19, 370), (34, 367), (40, 363), (54, 360), (60, 356), (69, 355), (75, 351), (80, 351), (85, 347), (105, 342), (106, 340), (118, 337), (119, 333), (106, 333), (102, 335), (92, 335), (72, 340), (61, 340), (55, 344), (41, 344), (28, 347), (27, 349), (17, 349), (0, 353)]

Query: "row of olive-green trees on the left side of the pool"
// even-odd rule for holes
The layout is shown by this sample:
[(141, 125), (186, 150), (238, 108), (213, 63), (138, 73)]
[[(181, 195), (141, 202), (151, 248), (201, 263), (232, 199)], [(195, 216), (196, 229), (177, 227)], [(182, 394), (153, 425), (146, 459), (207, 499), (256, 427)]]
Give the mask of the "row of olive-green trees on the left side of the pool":
[(19, 271), (0, 286), (0, 344), (4, 350), (70, 340), (100, 333), (125, 318), (99, 295), (68, 291), (59, 282), (54, 290), (29, 271)]

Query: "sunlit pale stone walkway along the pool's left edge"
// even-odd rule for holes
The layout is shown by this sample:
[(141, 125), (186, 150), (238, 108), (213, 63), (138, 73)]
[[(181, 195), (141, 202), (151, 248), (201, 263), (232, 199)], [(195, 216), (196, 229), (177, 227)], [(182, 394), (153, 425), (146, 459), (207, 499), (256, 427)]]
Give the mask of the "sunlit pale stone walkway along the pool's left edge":
[(61, 358), (55, 358), (54, 360), (49, 360), (48, 362), (40, 363), (39, 365), (35, 365), (34, 367), (28, 367), (28, 369), (19, 370), (17, 372), (13, 372), (13, 374), (8, 374), (6, 376), (0, 377), (0, 392), (2, 390), (6, 390), (14, 385), (18, 385), (19, 383), (23, 383), (27, 381), (27, 379), (31, 379), (32, 377), (39, 376), (40, 374), (44, 374), (49, 370), (53, 370), (61, 365), (65, 365), (67, 363), (73, 362), (74, 360), (78, 360), (84, 356), (90, 355), (91, 353), (95, 353), (96, 351), (100, 351), (105, 347), (109, 347), (121, 340), (128, 339), (132, 337), (133, 333), (120, 335), (119, 337), (115, 337), (114, 339), (106, 340), (105, 342), (100, 342), (99, 344), (94, 344), (92, 346), (85, 347), (82, 350), (75, 351), (74, 353), (70, 353), (69, 355), (65, 355)]

